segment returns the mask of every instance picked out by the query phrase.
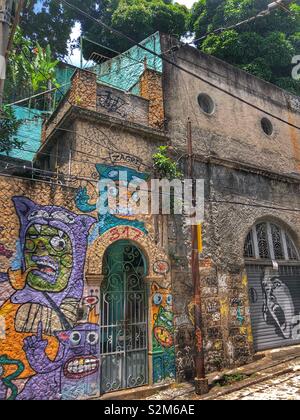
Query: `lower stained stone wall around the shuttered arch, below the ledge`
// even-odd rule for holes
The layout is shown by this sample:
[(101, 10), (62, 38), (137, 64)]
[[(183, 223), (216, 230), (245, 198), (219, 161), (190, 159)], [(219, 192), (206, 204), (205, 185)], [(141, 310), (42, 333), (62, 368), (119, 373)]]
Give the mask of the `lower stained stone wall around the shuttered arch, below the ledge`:
[[(195, 175), (198, 179), (205, 179), (200, 274), (206, 369), (211, 372), (240, 366), (253, 358), (244, 243), (255, 223), (268, 220), (286, 229), (299, 249), (298, 213), (288, 208), (299, 208), (300, 189), (296, 178), (266, 171), (255, 172), (233, 164), (225, 167), (217, 159), (211, 159), (210, 163), (196, 161)], [(183, 221), (175, 219), (170, 222), (179, 380), (193, 377), (190, 358), (194, 343), (190, 235)]]

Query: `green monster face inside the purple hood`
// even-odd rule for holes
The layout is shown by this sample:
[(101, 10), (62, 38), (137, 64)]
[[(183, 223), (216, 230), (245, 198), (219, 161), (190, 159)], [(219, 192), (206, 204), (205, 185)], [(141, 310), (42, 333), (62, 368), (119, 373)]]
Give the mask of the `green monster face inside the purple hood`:
[(41, 292), (59, 293), (72, 272), (73, 255), (70, 238), (59, 229), (31, 226), (25, 238), (27, 284)]

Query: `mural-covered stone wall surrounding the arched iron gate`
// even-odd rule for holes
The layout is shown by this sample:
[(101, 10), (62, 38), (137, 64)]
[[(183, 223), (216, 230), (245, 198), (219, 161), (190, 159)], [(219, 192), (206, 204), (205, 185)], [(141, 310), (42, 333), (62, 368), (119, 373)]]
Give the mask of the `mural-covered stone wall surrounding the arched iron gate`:
[[(120, 170), (128, 172), (128, 182), (148, 179), (136, 163), (128, 167), (125, 158), (126, 166), (120, 165), (100, 160), (93, 166), (98, 179)], [(160, 234), (151, 216), (98, 214), (97, 184), (96, 179), (80, 179), (71, 188), (0, 178), (5, 209), (0, 227), (0, 399), (99, 395), (102, 262), (107, 248), (121, 240), (136, 244), (147, 261), (150, 383), (175, 380), (168, 254), (155, 239)]]

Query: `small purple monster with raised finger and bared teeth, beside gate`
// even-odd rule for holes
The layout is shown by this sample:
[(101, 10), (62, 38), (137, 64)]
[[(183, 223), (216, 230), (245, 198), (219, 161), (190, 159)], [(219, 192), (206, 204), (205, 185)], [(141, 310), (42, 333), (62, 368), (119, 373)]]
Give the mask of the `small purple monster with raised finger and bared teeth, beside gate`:
[(29, 379), (17, 400), (75, 400), (95, 396), (99, 386), (99, 334), (95, 324), (82, 324), (56, 334), (60, 342), (54, 361), (46, 354), (48, 340), (39, 324), (27, 337), (24, 350), (37, 374)]

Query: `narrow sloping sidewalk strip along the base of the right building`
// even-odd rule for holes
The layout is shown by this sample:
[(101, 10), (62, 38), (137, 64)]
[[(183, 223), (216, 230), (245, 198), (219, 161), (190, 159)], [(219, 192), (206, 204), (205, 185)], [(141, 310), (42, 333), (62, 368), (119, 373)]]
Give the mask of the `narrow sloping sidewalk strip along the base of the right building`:
[[(167, 390), (152, 395), (147, 400), (215, 400), (233, 392), (272, 380), (279, 376), (300, 370), (300, 346), (270, 350), (256, 355), (257, 361), (233, 370), (225, 370), (208, 375), (211, 391), (199, 397), (194, 393), (192, 384), (174, 385)], [(227, 386), (213, 386), (224, 375), (244, 378)]]

